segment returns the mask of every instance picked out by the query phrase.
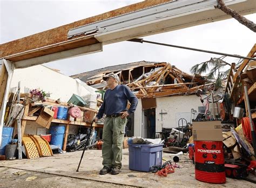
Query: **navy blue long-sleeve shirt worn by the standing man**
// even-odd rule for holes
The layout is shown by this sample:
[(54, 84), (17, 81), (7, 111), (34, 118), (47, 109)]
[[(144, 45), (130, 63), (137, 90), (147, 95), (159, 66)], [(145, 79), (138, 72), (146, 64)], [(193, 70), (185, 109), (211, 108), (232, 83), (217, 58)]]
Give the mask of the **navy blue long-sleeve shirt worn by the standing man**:
[[(131, 103), (127, 110), (127, 100)], [(103, 114), (112, 115), (119, 114), (127, 110), (129, 114), (133, 113), (137, 107), (138, 99), (126, 85), (117, 85), (113, 90), (107, 89), (104, 95), (104, 101), (96, 115), (98, 119), (102, 118)]]

